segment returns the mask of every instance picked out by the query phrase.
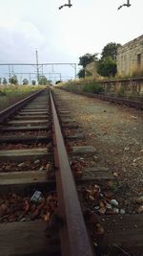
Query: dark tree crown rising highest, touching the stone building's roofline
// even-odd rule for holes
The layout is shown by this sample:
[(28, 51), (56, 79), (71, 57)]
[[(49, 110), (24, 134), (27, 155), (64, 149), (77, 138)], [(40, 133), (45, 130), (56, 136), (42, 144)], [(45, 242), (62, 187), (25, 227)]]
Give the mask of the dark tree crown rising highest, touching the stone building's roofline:
[(101, 53), (101, 59), (105, 60), (106, 58), (112, 58), (114, 61), (116, 61), (117, 56), (117, 48), (121, 46), (119, 43), (108, 43), (102, 50)]

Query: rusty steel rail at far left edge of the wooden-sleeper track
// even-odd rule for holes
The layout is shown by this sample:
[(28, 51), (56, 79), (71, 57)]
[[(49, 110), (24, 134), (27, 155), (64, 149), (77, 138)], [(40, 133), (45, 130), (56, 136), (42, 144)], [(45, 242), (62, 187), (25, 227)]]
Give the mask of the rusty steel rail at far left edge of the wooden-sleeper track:
[(33, 93), (31, 96), (19, 101), (18, 103), (14, 104), (14, 105), (10, 105), (6, 109), (2, 110), (0, 112), (0, 123), (4, 122), (7, 118), (10, 117), (11, 114), (13, 114), (15, 111), (17, 111), (20, 107), (31, 102), (31, 100), (36, 98), (42, 91), (43, 90), (37, 91), (37, 92)]

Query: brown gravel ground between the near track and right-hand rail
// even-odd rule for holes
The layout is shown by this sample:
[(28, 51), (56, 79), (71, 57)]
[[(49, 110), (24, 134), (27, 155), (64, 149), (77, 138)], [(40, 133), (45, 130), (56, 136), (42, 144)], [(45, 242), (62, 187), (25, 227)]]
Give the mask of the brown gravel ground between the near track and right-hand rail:
[(117, 179), (118, 197), (133, 213), (136, 199), (143, 196), (143, 112), (59, 89), (55, 92), (68, 105), (87, 144), (97, 150), (95, 166), (110, 168)]

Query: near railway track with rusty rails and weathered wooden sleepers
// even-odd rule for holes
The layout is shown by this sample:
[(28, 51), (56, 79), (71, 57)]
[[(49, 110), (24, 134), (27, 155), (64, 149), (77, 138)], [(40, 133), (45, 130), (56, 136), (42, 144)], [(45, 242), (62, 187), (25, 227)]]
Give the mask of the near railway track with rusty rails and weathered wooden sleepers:
[(58, 93), (38, 92), (0, 120), (2, 256), (142, 253), (142, 215), (115, 214), (113, 204), (104, 215), (114, 177), (96, 169)]

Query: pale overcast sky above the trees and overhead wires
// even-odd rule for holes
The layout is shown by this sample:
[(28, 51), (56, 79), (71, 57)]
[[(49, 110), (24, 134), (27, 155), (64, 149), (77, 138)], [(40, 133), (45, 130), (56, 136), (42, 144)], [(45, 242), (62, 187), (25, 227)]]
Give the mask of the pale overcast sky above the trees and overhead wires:
[(124, 44), (143, 34), (143, 0), (117, 11), (126, 1), (72, 0), (59, 11), (68, 0), (0, 0), (0, 62), (35, 62), (37, 48), (39, 62), (78, 63), (109, 42)]

